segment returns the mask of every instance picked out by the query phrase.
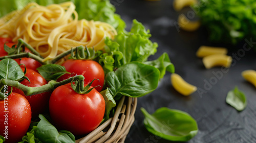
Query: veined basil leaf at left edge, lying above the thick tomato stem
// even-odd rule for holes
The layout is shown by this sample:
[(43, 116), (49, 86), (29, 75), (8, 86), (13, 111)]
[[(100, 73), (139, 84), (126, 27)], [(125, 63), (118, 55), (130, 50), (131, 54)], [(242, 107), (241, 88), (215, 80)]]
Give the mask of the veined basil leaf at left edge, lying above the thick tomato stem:
[(0, 61), (0, 80), (17, 80), (24, 76), (22, 68), (13, 59), (3, 59)]

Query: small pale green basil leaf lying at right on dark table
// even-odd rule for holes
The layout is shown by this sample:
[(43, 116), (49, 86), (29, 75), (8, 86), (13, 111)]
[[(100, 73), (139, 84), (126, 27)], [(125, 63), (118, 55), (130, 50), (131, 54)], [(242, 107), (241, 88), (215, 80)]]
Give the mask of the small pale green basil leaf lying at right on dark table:
[(238, 111), (244, 110), (247, 106), (245, 94), (241, 92), (238, 87), (235, 87), (233, 90), (227, 93), (226, 103)]

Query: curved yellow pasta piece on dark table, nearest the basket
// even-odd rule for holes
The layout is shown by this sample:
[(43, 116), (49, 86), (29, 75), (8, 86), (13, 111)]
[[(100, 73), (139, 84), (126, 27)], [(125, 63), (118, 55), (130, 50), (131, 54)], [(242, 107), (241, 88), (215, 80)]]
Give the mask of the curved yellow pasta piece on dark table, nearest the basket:
[(178, 74), (172, 74), (170, 76), (170, 81), (172, 82), (173, 87), (184, 96), (188, 96), (197, 90), (196, 86), (187, 83)]

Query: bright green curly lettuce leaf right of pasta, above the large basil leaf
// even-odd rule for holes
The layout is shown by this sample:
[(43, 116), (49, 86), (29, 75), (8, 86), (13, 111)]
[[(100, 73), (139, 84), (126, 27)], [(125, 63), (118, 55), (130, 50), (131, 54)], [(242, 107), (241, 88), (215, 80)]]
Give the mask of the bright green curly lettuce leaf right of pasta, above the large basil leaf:
[(114, 40), (108, 37), (105, 39), (105, 51), (108, 55), (102, 56), (100, 63), (103, 61), (103, 68), (113, 71), (114, 68), (126, 63), (146, 61), (149, 56), (157, 52), (158, 47), (158, 44), (153, 43), (150, 37), (150, 31), (134, 19), (130, 32), (119, 31)]

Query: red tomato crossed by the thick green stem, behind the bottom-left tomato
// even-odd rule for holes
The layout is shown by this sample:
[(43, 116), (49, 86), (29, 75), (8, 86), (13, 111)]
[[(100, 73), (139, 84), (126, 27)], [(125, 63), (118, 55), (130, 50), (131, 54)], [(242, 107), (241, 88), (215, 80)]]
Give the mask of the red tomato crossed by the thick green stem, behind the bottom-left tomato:
[[(24, 68), (22, 69), (24, 71)], [(25, 79), (22, 82), (20, 82), (23, 85), (30, 87), (38, 87), (47, 84), (47, 81), (39, 73), (32, 69), (27, 69), (27, 73), (25, 76), (29, 78), (30, 83), (28, 80)], [(13, 92), (25, 96), (24, 92), (20, 89), (13, 88)], [(33, 96), (25, 96), (25, 98), (29, 101), (29, 104), (31, 106), (32, 118), (38, 117), (40, 113), (44, 113), (46, 111), (46, 109), (48, 108), (50, 96), (50, 92), (35, 94)]]

